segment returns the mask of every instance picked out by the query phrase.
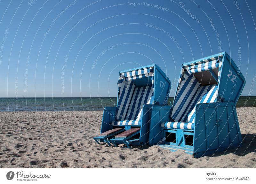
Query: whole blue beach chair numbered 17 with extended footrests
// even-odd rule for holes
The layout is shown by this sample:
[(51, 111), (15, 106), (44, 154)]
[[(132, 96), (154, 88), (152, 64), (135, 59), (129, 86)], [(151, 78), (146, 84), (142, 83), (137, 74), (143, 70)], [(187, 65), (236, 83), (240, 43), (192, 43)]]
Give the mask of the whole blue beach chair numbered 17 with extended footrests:
[[(98, 142), (129, 145), (148, 144), (153, 104), (166, 105), (171, 82), (157, 65), (119, 72), (117, 107), (105, 107)], [(121, 134), (108, 131), (122, 128)], [(121, 131), (121, 130), (120, 130)], [(107, 137), (106, 137), (107, 136)]]

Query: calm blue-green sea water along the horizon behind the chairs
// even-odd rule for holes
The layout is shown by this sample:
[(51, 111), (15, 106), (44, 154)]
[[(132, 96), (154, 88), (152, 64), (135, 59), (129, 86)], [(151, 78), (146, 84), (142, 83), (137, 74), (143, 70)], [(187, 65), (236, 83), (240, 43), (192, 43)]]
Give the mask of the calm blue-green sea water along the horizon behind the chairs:
[[(101, 111), (116, 98), (0, 98), (0, 111)], [(236, 107), (255, 107), (256, 96), (241, 96)], [(173, 101), (173, 97), (169, 98)]]

